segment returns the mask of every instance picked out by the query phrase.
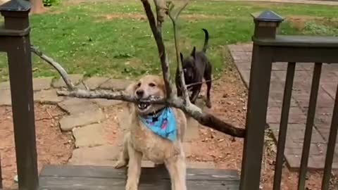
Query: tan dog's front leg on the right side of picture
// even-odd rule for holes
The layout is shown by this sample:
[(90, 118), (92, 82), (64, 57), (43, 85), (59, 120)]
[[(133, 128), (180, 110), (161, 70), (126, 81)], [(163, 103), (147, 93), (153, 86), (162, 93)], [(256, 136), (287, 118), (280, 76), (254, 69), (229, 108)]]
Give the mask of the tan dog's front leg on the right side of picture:
[(170, 180), (171, 180), (171, 190), (187, 190), (186, 180), (186, 166), (184, 156), (175, 156), (165, 160), (165, 166), (168, 169)]

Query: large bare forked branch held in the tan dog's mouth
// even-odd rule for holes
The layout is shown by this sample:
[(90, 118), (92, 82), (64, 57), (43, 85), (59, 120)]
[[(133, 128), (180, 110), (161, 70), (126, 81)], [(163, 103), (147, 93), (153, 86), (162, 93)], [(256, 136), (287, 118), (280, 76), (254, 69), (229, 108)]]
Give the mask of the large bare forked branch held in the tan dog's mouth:
[[(148, 99), (148, 100), (142, 100), (142, 102), (165, 104), (173, 108), (179, 108), (183, 110), (184, 113), (186, 113), (187, 115), (197, 120), (201, 125), (211, 127), (225, 134), (230, 134), (233, 137), (244, 137), (245, 129), (237, 128), (237, 127), (234, 127), (233, 125), (228, 124), (227, 122), (223, 122), (222, 120), (220, 120), (219, 118), (216, 118), (214, 115), (210, 113), (204, 113), (201, 110), (201, 108), (190, 103), (189, 99), (187, 100), (188, 103), (186, 104), (184, 103), (183, 99), (178, 98), (177, 96), (173, 96), (173, 90), (172, 90), (172, 86), (170, 83), (170, 74), (169, 74), (169, 69), (168, 69), (168, 58), (165, 54), (165, 46), (164, 46), (164, 42), (163, 42), (163, 38), (161, 34), (161, 26), (156, 26), (156, 20), (154, 18), (153, 12), (151, 11), (151, 6), (149, 2), (147, 0), (141, 0), (141, 1), (144, 5), (144, 10), (146, 11), (146, 15), (149, 19), (149, 25), (151, 27), (151, 31), (154, 34), (154, 38), (158, 46), (158, 53), (161, 58), (161, 66), (162, 66), (162, 71), (163, 71), (163, 80), (165, 81), (165, 89), (166, 89), (165, 98), (160, 99), (160, 98), (155, 97), (155, 98)], [(175, 43), (177, 43), (177, 39)], [(179, 51), (178, 46), (176, 50), (177, 52)], [(56, 68), (56, 70), (58, 70), (61, 77), (67, 84), (68, 91), (58, 91), (58, 95), (73, 96), (73, 97), (77, 97), (81, 99), (113, 99), (113, 100), (121, 100), (121, 101), (127, 101), (127, 102), (140, 102), (134, 99), (133, 96), (130, 96), (129, 94), (127, 94), (127, 92), (125, 91), (116, 91), (116, 92), (88, 91), (88, 90), (83, 90), (83, 89), (76, 89), (73, 83), (71, 82), (71, 80), (68, 78), (67, 72), (65, 72), (65, 70), (61, 67), (60, 64), (56, 63), (56, 61), (44, 55), (44, 53), (42, 53), (41, 51), (38, 51), (35, 47), (32, 47), (32, 52), (36, 53), (40, 58), (44, 59), (44, 61), (47, 61), (50, 65)], [(178, 65), (180, 64), (178, 63)], [(184, 80), (182, 80), (182, 82), (184, 82)], [(187, 89), (185, 85), (182, 87)]]

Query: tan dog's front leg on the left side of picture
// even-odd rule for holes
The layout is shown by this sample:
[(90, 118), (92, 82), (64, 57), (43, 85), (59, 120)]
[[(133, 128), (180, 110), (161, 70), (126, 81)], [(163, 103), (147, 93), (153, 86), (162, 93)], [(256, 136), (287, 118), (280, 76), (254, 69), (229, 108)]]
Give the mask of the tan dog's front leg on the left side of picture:
[(125, 190), (137, 190), (139, 177), (141, 175), (142, 153), (136, 151), (131, 144), (128, 146), (129, 167), (127, 173), (127, 184)]

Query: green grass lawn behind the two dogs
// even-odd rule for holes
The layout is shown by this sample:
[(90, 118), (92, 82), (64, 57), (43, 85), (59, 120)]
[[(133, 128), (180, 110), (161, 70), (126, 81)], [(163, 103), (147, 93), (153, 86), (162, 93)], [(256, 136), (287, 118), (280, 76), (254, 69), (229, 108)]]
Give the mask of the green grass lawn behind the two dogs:
[[(230, 64), (226, 45), (249, 42), (253, 33), (250, 13), (266, 9), (294, 18), (301, 25), (286, 20), (280, 34), (338, 34), (337, 11), (330, 6), (192, 1), (180, 19), (181, 50), (187, 55), (192, 46), (201, 49), (201, 28), (206, 28), (210, 33), (208, 56), (215, 73), (219, 73)], [(58, 5), (49, 13), (32, 15), (30, 23), (32, 44), (69, 73), (134, 77), (161, 71), (156, 44), (139, 1)], [(175, 52), (169, 20), (163, 26), (163, 36), (173, 70)], [(1, 54), (0, 80), (8, 79), (5, 57)], [(39, 58), (33, 61), (35, 77), (58, 76)]]

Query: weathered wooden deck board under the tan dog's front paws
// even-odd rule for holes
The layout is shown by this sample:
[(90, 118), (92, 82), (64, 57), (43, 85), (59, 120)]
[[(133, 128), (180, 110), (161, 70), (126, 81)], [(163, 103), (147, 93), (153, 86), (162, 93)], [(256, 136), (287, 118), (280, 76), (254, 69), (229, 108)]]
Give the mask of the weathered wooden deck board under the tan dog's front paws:
[[(125, 170), (106, 166), (46, 165), (39, 177), (40, 189), (124, 190)], [(237, 190), (235, 170), (187, 169), (187, 188), (196, 190)], [(163, 167), (142, 168), (139, 190), (170, 190), (168, 172)]]

